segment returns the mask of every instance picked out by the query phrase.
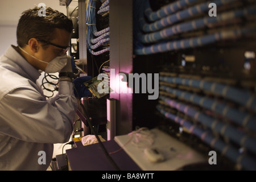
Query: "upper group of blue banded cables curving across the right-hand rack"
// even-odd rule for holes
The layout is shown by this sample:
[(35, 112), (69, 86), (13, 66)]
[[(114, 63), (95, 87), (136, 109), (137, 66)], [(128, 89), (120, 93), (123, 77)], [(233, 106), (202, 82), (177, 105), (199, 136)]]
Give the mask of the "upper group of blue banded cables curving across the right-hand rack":
[[(153, 12), (148, 0), (135, 1), (134, 53), (149, 55), (195, 48), (255, 33), (255, 23), (231, 28), (222, 28), (221, 26), (223, 22), (255, 16), (255, 5), (218, 13), (216, 17), (210, 17), (208, 15), (209, 3), (215, 3), (218, 9), (221, 9), (232, 3), (237, 3), (237, 0), (216, 0), (199, 4), (196, 2), (198, 1), (179, 0)], [(205, 28), (208, 28), (207, 33), (204, 32)], [(191, 36), (185, 35), (187, 32), (191, 33)], [(150, 43), (151, 45), (148, 45)]]

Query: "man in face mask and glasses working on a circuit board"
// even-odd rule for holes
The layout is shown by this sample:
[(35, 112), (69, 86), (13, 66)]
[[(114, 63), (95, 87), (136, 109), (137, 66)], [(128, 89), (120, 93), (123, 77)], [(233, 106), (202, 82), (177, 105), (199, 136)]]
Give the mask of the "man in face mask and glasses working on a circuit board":
[[(18, 46), (10, 46), (0, 58), (0, 170), (46, 170), (53, 143), (68, 142), (73, 131), (78, 102), (66, 55), (73, 24), (49, 7), (46, 16), (38, 11), (23, 12)], [(60, 72), (55, 98), (47, 100), (36, 82), (42, 71)], [(88, 90), (76, 85), (78, 97), (85, 97)]]

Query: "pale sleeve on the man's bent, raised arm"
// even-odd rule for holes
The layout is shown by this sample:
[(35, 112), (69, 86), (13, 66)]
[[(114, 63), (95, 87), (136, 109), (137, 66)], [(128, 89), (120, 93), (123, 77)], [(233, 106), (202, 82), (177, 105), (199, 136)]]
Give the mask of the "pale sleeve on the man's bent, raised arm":
[(0, 133), (27, 142), (65, 143), (73, 131), (77, 99), (72, 82), (61, 81), (59, 94), (49, 101), (23, 86), (2, 98), (0, 110)]

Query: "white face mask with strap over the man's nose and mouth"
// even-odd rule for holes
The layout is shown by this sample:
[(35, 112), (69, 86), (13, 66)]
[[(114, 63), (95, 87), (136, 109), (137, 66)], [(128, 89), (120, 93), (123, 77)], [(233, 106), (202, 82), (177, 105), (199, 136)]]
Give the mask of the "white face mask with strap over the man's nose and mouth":
[[(22, 49), (21, 47), (19, 47), (19, 48), (23, 52), (27, 53), (27, 55), (30, 55), (28, 52), (24, 51), (24, 49)], [(49, 61), (49, 63), (46, 62), (46, 61), (42, 61), (42, 60), (36, 58), (35, 56), (32, 56), (32, 55), (30, 55), (30, 56), (34, 57), (36, 60), (39, 60), (39, 61), (41, 61), (43, 63), (48, 64), (47, 67), (46, 67), (46, 70), (44, 71), (46, 73), (56, 73), (56, 72), (59, 72), (68, 63), (68, 55), (57, 56), (57, 57), (55, 57), (55, 59)]]

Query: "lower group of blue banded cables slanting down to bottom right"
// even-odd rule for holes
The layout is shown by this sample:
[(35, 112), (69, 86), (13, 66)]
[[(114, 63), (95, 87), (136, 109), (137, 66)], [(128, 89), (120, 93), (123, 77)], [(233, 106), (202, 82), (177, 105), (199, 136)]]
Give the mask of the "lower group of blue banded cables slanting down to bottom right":
[[(167, 75), (162, 72), (159, 77), (156, 109), (234, 163), (255, 170), (255, 94), (204, 78)], [(245, 151), (239, 152), (240, 148)]]

